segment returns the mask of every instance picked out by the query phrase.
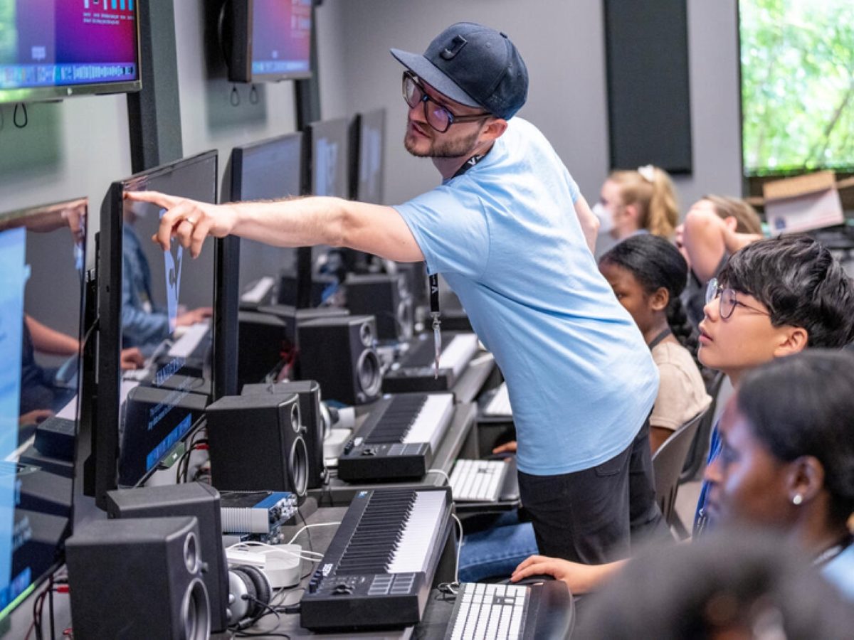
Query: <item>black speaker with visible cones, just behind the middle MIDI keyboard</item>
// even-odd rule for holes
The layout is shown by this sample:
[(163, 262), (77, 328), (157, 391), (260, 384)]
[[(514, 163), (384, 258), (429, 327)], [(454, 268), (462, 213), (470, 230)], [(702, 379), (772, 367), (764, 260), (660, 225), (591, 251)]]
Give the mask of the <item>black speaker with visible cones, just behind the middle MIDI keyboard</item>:
[(316, 380), (324, 399), (366, 404), (383, 387), (372, 316), (328, 317), (300, 325), (300, 376)]

